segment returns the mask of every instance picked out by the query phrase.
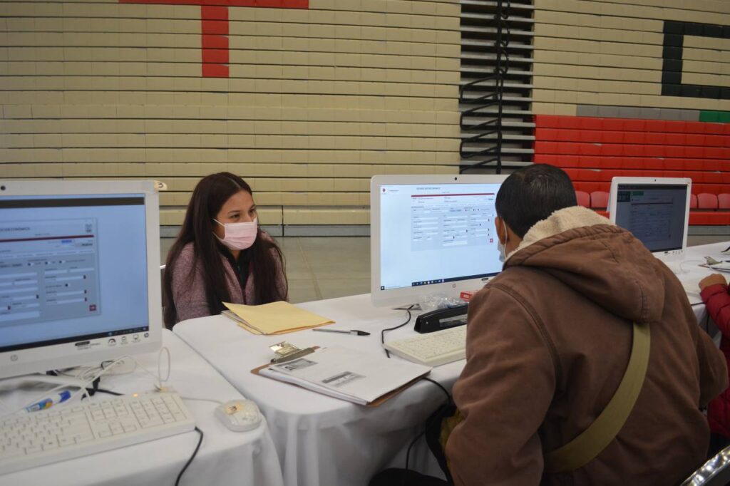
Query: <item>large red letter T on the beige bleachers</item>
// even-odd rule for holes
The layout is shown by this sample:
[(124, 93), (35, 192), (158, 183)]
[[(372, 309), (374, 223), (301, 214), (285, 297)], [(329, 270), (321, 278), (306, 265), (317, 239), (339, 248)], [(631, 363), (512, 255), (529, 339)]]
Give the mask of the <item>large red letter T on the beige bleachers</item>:
[(119, 0), (119, 3), (200, 5), (203, 77), (228, 77), (228, 7), (310, 7), (310, 0)]

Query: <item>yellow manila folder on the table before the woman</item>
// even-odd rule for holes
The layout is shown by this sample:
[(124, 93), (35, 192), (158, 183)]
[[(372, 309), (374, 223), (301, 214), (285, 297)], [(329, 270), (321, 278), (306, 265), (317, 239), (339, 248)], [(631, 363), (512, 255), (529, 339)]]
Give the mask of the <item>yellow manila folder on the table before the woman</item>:
[(228, 302), (223, 302), (223, 305), (229, 309), (223, 311), (223, 315), (235, 320), (239, 326), (254, 334), (284, 334), (334, 323), (334, 320), (300, 309), (285, 301), (260, 306), (228, 304)]

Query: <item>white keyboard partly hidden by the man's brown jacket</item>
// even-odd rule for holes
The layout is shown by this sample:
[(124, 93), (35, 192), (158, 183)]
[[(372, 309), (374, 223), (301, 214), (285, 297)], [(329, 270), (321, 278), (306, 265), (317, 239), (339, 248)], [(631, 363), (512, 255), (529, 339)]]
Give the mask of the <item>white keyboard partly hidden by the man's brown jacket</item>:
[(386, 342), (396, 356), (426, 366), (439, 366), (466, 357), (466, 325)]

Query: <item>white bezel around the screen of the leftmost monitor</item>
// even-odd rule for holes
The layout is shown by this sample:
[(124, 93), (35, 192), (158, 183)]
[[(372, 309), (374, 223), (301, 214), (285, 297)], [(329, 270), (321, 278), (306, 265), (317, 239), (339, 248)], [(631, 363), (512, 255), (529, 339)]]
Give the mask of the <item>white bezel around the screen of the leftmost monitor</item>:
[[(0, 378), (18, 377), (49, 370), (72, 368), (86, 364), (99, 365), (124, 355), (159, 350), (162, 346), (162, 301), (160, 285), (160, 215), (159, 194), (153, 181), (89, 181), (89, 180), (0, 180), (3, 196), (114, 196), (142, 194), (145, 199), (145, 233), (147, 254), (147, 318), (149, 329), (94, 339), (73, 339), (69, 342), (27, 347), (0, 352)], [(148, 336), (145, 336), (148, 333)], [(137, 341), (134, 335), (137, 334)], [(127, 344), (120, 344), (126, 337)], [(88, 344), (85, 344), (87, 343)]]

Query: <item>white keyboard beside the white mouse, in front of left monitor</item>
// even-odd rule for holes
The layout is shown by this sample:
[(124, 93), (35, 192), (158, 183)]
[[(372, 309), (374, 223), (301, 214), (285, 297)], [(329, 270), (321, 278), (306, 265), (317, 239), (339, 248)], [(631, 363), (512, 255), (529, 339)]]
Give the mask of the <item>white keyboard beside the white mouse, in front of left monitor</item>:
[(195, 428), (176, 393), (118, 396), (0, 418), (0, 475)]

